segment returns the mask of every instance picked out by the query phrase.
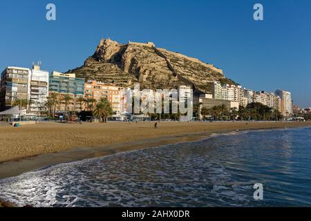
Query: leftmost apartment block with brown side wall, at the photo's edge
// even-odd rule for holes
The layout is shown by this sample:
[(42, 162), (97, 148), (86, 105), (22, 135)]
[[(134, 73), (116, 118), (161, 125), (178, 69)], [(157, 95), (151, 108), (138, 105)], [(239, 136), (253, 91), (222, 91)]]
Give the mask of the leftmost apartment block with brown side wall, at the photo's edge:
[(17, 99), (28, 99), (29, 68), (8, 67), (1, 73), (0, 110), (12, 108)]

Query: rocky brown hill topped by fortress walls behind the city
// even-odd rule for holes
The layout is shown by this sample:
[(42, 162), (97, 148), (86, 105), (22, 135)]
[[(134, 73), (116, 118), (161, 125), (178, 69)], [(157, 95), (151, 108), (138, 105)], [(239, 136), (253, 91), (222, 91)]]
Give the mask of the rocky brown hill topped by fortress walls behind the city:
[(199, 93), (210, 93), (210, 81), (225, 79), (223, 71), (211, 64), (156, 48), (153, 43), (118, 44), (111, 39), (102, 39), (84, 66), (68, 73), (124, 87), (135, 82), (151, 89), (188, 85)]

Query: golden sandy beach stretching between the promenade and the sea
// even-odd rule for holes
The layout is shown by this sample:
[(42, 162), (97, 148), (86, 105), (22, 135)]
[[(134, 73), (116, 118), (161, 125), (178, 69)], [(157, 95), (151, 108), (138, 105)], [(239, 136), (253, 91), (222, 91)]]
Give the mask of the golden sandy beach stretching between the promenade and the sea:
[(0, 179), (63, 162), (200, 140), (212, 133), (311, 126), (311, 122), (45, 122), (0, 124)]

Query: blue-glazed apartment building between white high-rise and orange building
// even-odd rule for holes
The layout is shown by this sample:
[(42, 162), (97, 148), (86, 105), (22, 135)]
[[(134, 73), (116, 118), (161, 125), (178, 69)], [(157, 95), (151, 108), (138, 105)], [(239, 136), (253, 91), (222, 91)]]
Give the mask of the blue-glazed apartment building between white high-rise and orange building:
[[(49, 94), (56, 93), (59, 97), (59, 111), (82, 111), (77, 100), (84, 97), (84, 79), (75, 77), (75, 74), (64, 74), (53, 71), (49, 79)], [(67, 104), (63, 99), (64, 95), (69, 95), (72, 99)]]

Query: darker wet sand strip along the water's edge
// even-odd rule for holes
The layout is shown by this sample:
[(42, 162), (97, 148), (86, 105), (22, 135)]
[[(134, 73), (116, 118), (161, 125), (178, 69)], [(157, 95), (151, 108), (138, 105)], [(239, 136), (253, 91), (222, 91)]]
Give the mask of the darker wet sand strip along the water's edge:
[(153, 137), (152, 139), (144, 138), (139, 140), (133, 140), (130, 142), (98, 145), (92, 148), (90, 147), (70, 148), (68, 151), (59, 151), (57, 153), (45, 153), (41, 155), (35, 155), (32, 157), (25, 157), (20, 160), (3, 162), (0, 164), (0, 180), (8, 177), (15, 177), (30, 171), (45, 169), (57, 164), (76, 162), (96, 157), (104, 157), (106, 155), (113, 155), (115, 153), (135, 151), (143, 148), (152, 148), (156, 146), (164, 146), (167, 144), (177, 144), (181, 142), (198, 142), (200, 140), (204, 140), (211, 137), (211, 135), (224, 135), (226, 133), (243, 132), (243, 131), (261, 131), (261, 130), (276, 130), (285, 128), (310, 127), (311, 126), (310, 123), (305, 125), (286, 124), (282, 126), (273, 125), (266, 127), (261, 126), (258, 127), (257, 125), (256, 127), (252, 126), (250, 128), (241, 128), (241, 129), (223, 128), (220, 131), (203, 131), (196, 133), (185, 133), (185, 134), (165, 135), (165, 136), (162, 135), (158, 137)]

